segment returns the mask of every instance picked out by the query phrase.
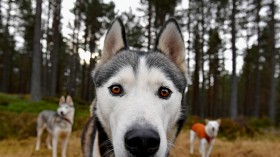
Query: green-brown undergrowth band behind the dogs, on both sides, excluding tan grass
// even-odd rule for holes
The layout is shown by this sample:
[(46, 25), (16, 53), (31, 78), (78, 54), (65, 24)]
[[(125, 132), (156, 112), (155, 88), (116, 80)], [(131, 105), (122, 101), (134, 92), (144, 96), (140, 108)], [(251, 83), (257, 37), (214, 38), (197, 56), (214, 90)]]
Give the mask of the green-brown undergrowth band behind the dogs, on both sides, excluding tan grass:
[[(47, 97), (39, 102), (30, 102), (29, 96), (0, 93), (0, 140), (7, 138), (24, 139), (36, 136), (36, 118), (42, 110), (56, 110), (58, 98)], [(89, 116), (89, 104), (75, 100), (75, 122), (73, 130), (81, 130)], [(204, 123), (198, 116), (188, 117), (182, 132), (188, 132), (195, 122)], [(239, 137), (255, 138), (263, 135), (272, 127), (268, 118), (223, 118), (219, 137), (236, 140)], [(273, 129), (272, 129), (273, 130)]]

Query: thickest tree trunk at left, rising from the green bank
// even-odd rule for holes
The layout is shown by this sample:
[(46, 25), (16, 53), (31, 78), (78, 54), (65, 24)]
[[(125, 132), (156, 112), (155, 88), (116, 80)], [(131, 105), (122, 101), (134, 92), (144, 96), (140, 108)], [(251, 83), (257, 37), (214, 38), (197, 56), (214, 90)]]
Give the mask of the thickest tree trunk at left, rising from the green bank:
[(34, 28), (34, 44), (32, 55), (32, 76), (31, 76), (31, 101), (41, 100), (41, 14), (42, 0), (36, 1), (36, 18)]

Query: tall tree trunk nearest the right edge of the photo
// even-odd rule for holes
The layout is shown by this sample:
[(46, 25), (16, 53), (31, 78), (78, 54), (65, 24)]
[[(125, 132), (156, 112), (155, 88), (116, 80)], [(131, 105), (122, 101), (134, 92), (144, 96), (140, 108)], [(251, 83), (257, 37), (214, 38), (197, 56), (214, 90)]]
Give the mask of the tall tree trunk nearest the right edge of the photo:
[(269, 22), (269, 30), (270, 30), (270, 48), (271, 48), (271, 55), (270, 55), (270, 88), (269, 88), (269, 119), (272, 122), (275, 122), (275, 115), (276, 115), (276, 107), (275, 107), (275, 92), (276, 92), (276, 77), (275, 77), (275, 58), (276, 58), (276, 49), (275, 49), (275, 1), (272, 0), (270, 4), (270, 22)]

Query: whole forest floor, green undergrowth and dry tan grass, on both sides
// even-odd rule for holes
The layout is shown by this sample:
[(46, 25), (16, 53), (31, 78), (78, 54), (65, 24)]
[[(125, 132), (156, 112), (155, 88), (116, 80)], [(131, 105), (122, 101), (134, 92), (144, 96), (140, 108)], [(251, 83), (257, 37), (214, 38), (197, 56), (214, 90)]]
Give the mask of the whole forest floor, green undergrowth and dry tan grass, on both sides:
[[(45, 109), (56, 110), (58, 98), (45, 98), (30, 102), (28, 96), (0, 93), (0, 156), (45, 157), (51, 156), (42, 139), (40, 151), (35, 151), (36, 117)], [(81, 157), (81, 130), (89, 115), (89, 105), (75, 101), (74, 132), (68, 145), (68, 157)], [(189, 126), (196, 121), (189, 118), (171, 151), (171, 157), (199, 157), (198, 142), (195, 154), (189, 155)], [(222, 128), (211, 157), (279, 157), (279, 131), (260, 131), (269, 127), (267, 120), (240, 119), (237, 122), (222, 120)], [(268, 129), (266, 129), (268, 130)], [(60, 152), (61, 149), (58, 151)]]

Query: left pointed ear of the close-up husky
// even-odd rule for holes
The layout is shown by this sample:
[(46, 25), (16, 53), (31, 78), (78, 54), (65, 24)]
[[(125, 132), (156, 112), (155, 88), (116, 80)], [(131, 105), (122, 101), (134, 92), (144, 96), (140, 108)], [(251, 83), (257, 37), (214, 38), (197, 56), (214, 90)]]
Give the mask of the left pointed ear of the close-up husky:
[(107, 61), (120, 50), (127, 48), (124, 25), (120, 18), (116, 18), (106, 34), (101, 62)]

